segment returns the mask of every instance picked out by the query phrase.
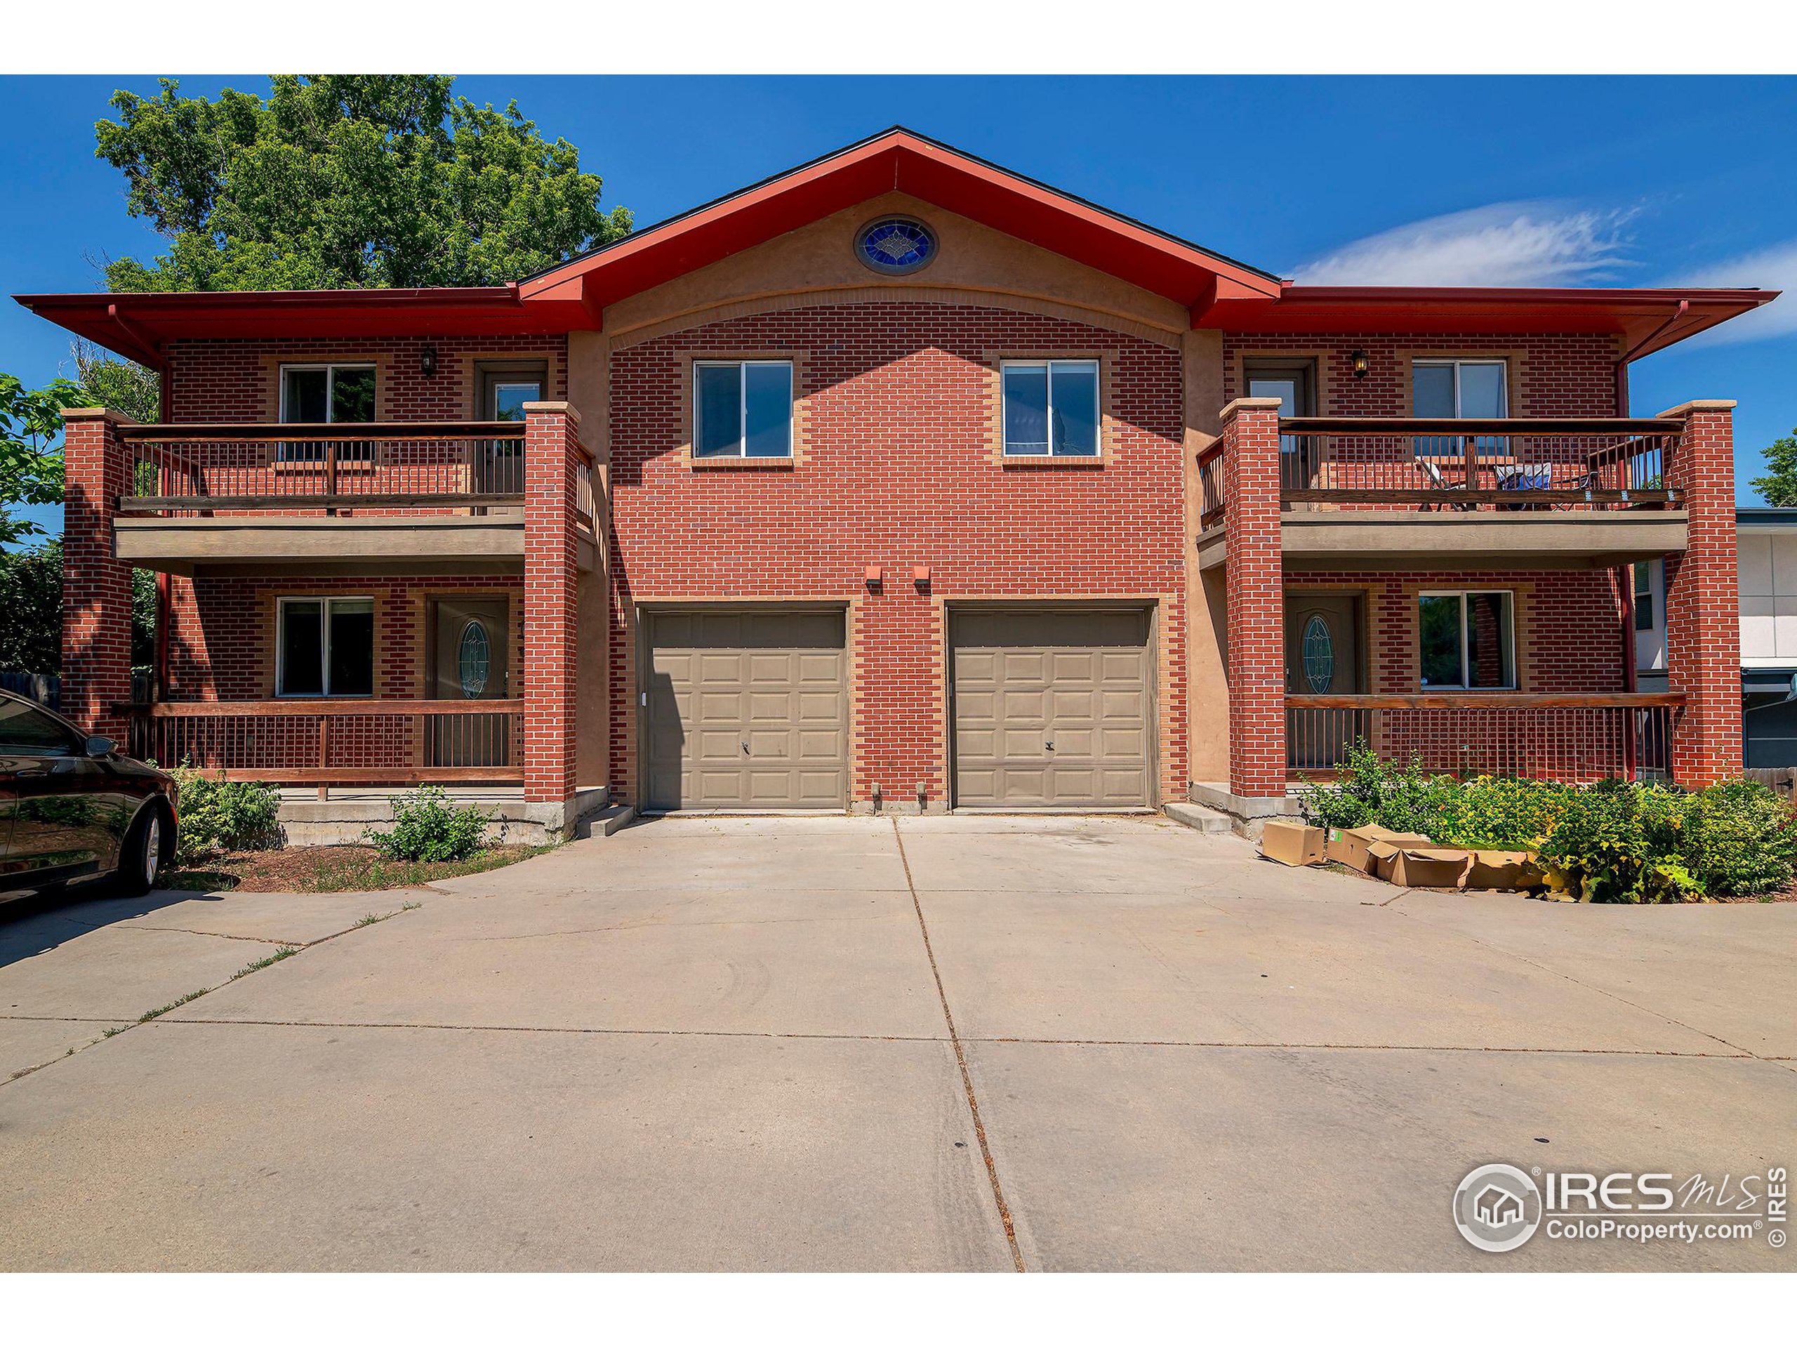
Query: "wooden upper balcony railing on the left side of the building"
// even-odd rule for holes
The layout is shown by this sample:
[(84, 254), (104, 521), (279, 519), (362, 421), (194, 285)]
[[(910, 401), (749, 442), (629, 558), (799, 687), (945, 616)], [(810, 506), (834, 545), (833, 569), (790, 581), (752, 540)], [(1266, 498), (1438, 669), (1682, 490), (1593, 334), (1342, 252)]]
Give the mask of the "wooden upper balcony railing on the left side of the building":
[(131, 514), (465, 514), (525, 501), (519, 421), (120, 426)]

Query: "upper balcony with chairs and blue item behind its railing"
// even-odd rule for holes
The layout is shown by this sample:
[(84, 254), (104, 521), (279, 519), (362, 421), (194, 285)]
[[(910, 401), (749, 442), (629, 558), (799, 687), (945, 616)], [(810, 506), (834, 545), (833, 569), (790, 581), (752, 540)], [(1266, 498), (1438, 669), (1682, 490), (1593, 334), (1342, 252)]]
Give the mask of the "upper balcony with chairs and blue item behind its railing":
[[(1281, 417), (1297, 568), (1617, 566), (1686, 546), (1680, 417)], [(1222, 442), (1199, 457), (1199, 564), (1227, 555)]]

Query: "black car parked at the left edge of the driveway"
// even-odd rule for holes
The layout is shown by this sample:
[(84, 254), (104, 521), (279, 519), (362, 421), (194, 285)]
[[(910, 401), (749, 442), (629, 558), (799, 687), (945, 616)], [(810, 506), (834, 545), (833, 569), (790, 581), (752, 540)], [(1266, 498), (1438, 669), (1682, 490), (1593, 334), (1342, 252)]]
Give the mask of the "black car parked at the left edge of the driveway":
[(0, 692), (0, 893), (104, 875), (138, 895), (174, 856), (174, 778)]

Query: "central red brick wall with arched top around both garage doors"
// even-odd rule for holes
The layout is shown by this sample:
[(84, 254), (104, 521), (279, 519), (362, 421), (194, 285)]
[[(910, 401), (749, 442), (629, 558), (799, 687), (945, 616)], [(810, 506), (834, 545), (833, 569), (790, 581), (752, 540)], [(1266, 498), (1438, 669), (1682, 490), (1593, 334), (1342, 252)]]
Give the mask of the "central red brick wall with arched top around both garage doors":
[[(801, 462), (681, 462), (688, 352), (800, 350)], [(1116, 352), (1103, 467), (994, 462), (1006, 350)], [(1154, 595), (1163, 667), (1184, 669), (1179, 352), (1062, 318), (952, 304), (854, 304), (722, 320), (611, 356), (613, 767), (634, 800), (638, 599), (859, 602), (852, 800), (947, 793), (936, 606), (958, 597)], [(863, 588), (879, 564), (881, 593)], [(911, 568), (931, 568), (927, 595)], [(1163, 688), (1163, 791), (1184, 796), (1184, 690)]]

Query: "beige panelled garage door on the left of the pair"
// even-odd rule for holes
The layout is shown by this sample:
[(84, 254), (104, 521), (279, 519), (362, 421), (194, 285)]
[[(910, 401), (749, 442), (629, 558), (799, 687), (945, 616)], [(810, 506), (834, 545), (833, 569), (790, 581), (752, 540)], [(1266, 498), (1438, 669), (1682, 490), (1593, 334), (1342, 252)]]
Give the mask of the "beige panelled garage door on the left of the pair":
[(846, 663), (841, 613), (651, 615), (645, 803), (846, 805)]

